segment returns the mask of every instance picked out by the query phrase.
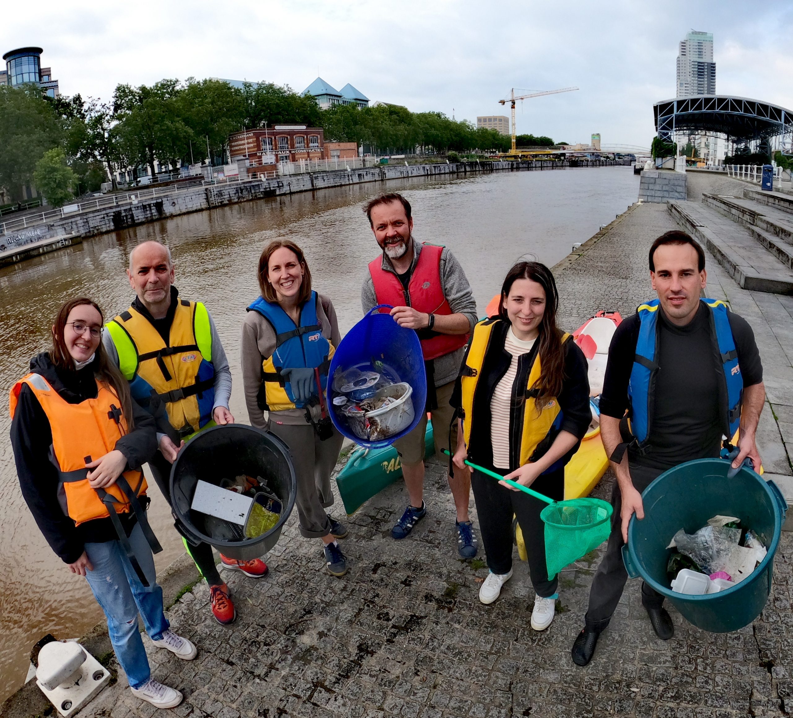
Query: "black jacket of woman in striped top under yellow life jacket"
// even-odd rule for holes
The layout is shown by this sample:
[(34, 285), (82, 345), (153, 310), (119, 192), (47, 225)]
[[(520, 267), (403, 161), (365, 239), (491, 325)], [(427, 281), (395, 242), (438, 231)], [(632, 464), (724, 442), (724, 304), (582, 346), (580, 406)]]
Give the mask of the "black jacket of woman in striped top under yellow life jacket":
[[(485, 360), (482, 363), (481, 378), (477, 382), (477, 416), (470, 417), (471, 421), (471, 440), (468, 447), (468, 455), (473, 463), (481, 464), (486, 468), (492, 468), (492, 443), (490, 439), (490, 398), (496, 384), (500, 382), (504, 374), (507, 373), (512, 361), (512, 355), (504, 349), (504, 340), (507, 337), (509, 328), (508, 321), (500, 321), (492, 329), (492, 338), (485, 352)], [(469, 345), (470, 346), (470, 345)], [(563, 418), (559, 431), (565, 431), (576, 436), (580, 441), (587, 432), (589, 423), (592, 421), (592, 409), (589, 406), (589, 378), (587, 374), (587, 360), (584, 352), (571, 339), (564, 345), (565, 349), (565, 369), (564, 381), (562, 382), (561, 392), (557, 397)], [(518, 374), (515, 376), (515, 386), (526, 386), (531, 365), (534, 357), (539, 350), (539, 343), (535, 342), (532, 351), (520, 357), (518, 361)], [(468, 356), (468, 349), (465, 350), (465, 357)], [(465, 365), (465, 359), (463, 359)], [(454, 392), (450, 399), (450, 404), (455, 408), (462, 406), (462, 389), (458, 378), (454, 385)], [(549, 436), (546, 442), (538, 446), (536, 454), (542, 455), (550, 448), (556, 438)], [(519, 437), (510, 442), (511, 449), (518, 452)], [(561, 462), (567, 463), (573, 454), (578, 451), (577, 443), (565, 456)], [(516, 456), (510, 459), (510, 470), (519, 468)]]

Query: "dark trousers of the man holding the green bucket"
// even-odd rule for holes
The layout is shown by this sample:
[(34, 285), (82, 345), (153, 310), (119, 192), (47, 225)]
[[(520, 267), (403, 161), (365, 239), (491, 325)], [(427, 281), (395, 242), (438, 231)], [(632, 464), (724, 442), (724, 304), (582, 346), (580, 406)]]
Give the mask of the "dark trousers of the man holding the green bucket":
[[(634, 487), (642, 493), (656, 478), (664, 473), (664, 469), (654, 469), (631, 465), (630, 478)], [(623, 497), (617, 482), (611, 493), (611, 505), (614, 513), (611, 515), (611, 535), (608, 537), (606, 555), (600, 562), (592, 578), (592, 588), (589, 590), (589, 610), (586, 615), (588, 628), (603, 630), (608, 625), (611, 616), (617, 609), (619, 599), (623, 595), (628, 574), (623, 563), (623, 520), (619, 516), (623, 505)], [(647, 507), (645, 507), (645, 511)], [(646, 609), (661, 608), (664, 597), (661, 593), (651, 589), (642, 582), (642, 605)]]

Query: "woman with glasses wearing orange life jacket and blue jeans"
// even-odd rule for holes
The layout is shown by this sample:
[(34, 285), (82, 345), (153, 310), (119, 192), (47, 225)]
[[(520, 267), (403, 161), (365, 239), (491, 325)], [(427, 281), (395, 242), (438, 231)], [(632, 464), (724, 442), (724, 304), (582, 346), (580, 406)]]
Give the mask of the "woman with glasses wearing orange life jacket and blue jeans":
[(105, 612), (132, 693), (173, 708), (182, 693), (151, 678), (138, 613), (157, 647), (190, 660), (196, 647), (170, 631), (152, 551), (140, 467), (157, 451), (155, 420), (132, 401), (101, 342), (102, 312), (64, 304), (53, 346), (12, 388), (11, 443), (22, 495), (52, 550), (85, 576)]

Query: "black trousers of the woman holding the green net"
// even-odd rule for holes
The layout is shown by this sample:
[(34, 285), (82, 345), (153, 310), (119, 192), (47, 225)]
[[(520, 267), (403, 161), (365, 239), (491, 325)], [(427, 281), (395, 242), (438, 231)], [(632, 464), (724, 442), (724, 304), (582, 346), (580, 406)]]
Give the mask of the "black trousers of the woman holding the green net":
[[(495, 470), (508, 474), (507, 470)], [(508, 574), (512, 568), (512, 516), (517, 516), (523, 542), (529, 559), (531, 584), (539, 597), (548, 598), (556, 593), (558, 580), (548, 578), (545, 556), (545, 524), (540, 512), (547, 504), (523, 491), (512, 491), (501, 486), (495, 478), (481, 471), (471, 474), (473, 498), (477, 503), (479, 530), (485, 545), (488, 568), (494, 574)], [(561, 501), (565, 497), (565, 469), (539, 476), (531, 488), (549, 498)]]

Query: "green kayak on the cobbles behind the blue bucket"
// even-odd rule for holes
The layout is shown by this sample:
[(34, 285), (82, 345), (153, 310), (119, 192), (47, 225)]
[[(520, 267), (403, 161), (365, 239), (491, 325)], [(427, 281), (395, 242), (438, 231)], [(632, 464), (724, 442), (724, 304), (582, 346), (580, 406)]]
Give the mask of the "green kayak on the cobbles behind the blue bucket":
[[(435, 454), (435, 440), (432, 437), (432, 422), (427, 421), (424, 434), (424, 458)], [(353, 450), (347, 464), (339, 471), (336, 484), (344, 502), (344, 510), (349, 516), (365, 501), (380, 493), (386, 486), (402, 478), (402, 464), (393, 446), (381, 449), (358, 447)]]

